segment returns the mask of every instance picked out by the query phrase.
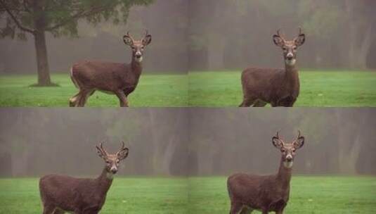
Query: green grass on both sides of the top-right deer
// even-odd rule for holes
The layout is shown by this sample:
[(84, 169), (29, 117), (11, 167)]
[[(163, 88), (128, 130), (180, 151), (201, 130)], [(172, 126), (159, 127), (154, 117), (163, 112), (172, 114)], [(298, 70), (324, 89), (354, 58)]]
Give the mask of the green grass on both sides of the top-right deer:
[[(239, 106), (240, 75), (240, 71), (189, 73), (188, 105)], [(304, 70), (299, 78), (294, 106), (376, 106), (376, 72)]]

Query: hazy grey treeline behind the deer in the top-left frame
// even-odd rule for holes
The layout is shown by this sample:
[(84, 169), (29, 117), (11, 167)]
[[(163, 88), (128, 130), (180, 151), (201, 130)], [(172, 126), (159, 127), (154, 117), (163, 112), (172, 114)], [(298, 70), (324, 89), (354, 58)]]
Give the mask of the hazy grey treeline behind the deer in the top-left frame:
[[(129, 31), (134, 39), (141, 39), (148, 30), (153, 36), (145, 49), (145, 73), (186, 73), (188, 69), (188, 1), (155, 0), (150, 6), (131, 8), (127, 24), (114, 25), (110, 21), (96, 26), (79, 22), (77, 38), (54, 38), (46, 34), (48, 61), (52, 73), (68, 72), (75, 61), (99, 59), (104, 61), (131, 61), (131, 49), (123, 42)], [(4, 20), (0, 25), (4, 24)], [(31, 73), (37, 70), (34, 41), (0, 40), (0, 73)], [(21, 63), (22, 62), (22, 63)]]

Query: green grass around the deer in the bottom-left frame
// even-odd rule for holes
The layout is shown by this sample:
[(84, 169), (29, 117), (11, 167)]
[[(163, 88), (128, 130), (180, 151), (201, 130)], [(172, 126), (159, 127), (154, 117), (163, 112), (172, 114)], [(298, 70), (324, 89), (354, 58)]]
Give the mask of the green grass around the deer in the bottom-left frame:
[[(0, 179), (0, 213), (42, 213), (37, 178)], [(184, 178), (115, 177), (101, 213), (186, 213)]]

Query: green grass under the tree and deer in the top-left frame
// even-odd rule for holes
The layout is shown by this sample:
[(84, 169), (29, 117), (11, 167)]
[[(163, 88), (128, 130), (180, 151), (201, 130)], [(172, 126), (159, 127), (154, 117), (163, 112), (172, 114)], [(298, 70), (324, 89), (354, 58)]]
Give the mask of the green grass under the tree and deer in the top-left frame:
[[(53, 74), (60, 87), (30, 87), (35, 75), (0, 75), (0, 106), (68, 106), (77, 94), (68, 74)], [(187, 106), (186, 75), (141, 75), (136, 90), (129, 95), (129, 106)], [(117, 96), (96, 92), (86, 106), (119, 106)]]

